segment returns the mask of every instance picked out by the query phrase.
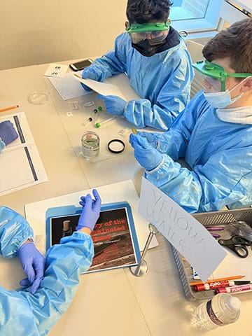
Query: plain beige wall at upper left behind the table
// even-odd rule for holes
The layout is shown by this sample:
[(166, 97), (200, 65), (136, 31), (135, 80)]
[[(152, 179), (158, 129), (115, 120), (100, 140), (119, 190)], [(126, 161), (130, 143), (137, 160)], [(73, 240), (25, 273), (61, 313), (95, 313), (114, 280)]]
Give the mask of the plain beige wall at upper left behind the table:
[(101, 55), (127, 0), (0, 0), (0, 69)]

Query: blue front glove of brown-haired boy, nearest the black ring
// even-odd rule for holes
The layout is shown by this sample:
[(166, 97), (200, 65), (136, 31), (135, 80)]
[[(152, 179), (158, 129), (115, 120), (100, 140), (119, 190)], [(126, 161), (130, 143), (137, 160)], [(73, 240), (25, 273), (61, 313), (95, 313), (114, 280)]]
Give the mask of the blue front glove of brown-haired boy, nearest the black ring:
[(144, 169), (153, 170), (162, 162), (162, 154), (153, 148), (146, 138), (130, 134), (130, 144), (134, 148), (134, 157)]

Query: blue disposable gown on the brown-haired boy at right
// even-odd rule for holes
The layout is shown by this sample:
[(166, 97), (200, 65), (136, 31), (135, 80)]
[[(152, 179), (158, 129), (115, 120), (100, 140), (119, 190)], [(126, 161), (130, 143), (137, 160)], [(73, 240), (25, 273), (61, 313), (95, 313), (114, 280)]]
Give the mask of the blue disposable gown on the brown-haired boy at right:
[[(226, 123), (199, 92), (158, 134), (163, 160), (146, 179), (186, 211), (246, 207), (252, 203), (252, 125)], [(185, 158), (192, 170), (174, 162)]]

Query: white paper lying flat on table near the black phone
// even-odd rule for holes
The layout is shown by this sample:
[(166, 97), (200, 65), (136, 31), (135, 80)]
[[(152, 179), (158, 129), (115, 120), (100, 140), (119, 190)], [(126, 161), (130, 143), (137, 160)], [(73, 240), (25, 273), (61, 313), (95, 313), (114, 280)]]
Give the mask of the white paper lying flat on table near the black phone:
[[(80, 71), (82, 72), (82, 71)], [(52, 78), (48, 77), (50, 83), (55, 87), (60, 97), (63, 100), (68, 100), (80, 96), (85, 96), (85, 94), (90, 94), (90, 92), (85, 91), (80, 83), (73, 78), (72, 73), (66, 73), (64, 78)]]

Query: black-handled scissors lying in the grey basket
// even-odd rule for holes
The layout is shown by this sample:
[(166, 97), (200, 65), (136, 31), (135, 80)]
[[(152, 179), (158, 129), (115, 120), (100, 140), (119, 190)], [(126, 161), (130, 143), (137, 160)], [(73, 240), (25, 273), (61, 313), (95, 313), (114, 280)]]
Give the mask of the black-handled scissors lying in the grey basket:
[(247, 246), (252, 245), (252, 241), (242, 236), (233, 236), (230, 239), (219, 239), (218, 242), (234, 251), (238, 257), (246, 258), (248, 256)]

